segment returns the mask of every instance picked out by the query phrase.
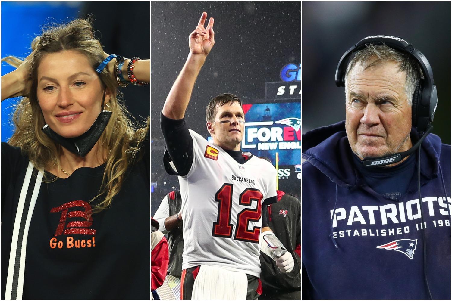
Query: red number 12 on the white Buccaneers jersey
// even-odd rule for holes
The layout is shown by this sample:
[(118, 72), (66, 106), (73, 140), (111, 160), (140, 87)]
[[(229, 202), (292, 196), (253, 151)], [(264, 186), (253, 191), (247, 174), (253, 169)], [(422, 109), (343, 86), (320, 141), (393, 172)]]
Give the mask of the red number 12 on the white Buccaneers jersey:
[[(231, 238), (231, 208), (234, 200), (232, 199), (233, 184), (226, 183), (215, 194), (215, 202), (218, 202), (217, 222), (213, 223), (212, 236)], [(237, 225), (235, 227), (234, 240), (259, 242), (260, 227), (253, 227), (248, 230), (249, 222), (259, 221), (262, 214), (261, 201), (264, 195), (258, 189), (246, 188), (239, 196), (238, 204), (251, 206), (252, 201), (257, 201), (257, 206), (245, 208), (237, 214)]]

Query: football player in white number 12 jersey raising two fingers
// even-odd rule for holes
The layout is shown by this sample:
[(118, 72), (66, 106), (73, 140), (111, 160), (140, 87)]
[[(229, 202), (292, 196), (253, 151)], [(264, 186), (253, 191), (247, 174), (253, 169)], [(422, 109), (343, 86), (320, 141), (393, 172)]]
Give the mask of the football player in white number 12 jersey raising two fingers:
[(190, 53), (160, 119), (165, 169), (179, 176), (182, 195), (181, 299), (256, 299), (259, 246), (284, 272), (293, 269), (294, 260), (280, 252), (282, 245), (268, 227), (261, 229), (262, 205), (277, 201), (276, 170), (240, 150), (245, 127), (240, 99), (226, 93), (207, 105), (212, 144), (185, 124), (194, 83), (215, 43), (214, 20), (204, 27), (206, 20), (204, 12), (189, 36)]

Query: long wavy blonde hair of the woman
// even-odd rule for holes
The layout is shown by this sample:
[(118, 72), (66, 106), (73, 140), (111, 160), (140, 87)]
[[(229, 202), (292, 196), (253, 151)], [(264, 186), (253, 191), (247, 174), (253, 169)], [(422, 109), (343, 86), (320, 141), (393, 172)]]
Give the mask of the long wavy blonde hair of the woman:
[[(14, 112), (16, 130), (9, 139), (9, 144), (18, 146), (28, 155), (29, 160), (38, 168), (61, 168), (59, 156), (62, 154), (61, 145), (48, 138), (42, 127), (46, 124), (37, 97), (38, 66), (44, 56), (65, 50), (78, 51), (85, 55), (93, 69), (104, 60), (104, 50), (94, 35), (91, 19), (76, 19), (66, 24), (56, 25), (43, 30), (42, 35), (32, 42), (33, 57), (30, 60), (31, 68), (28, 74), (28, 98), (23, 97)], [(18, 58), (9, 56), (2, 59), (14, 67), (23, 63)], [(97, 74), (97, 72), (96, 72)], [(136, 125), (127, 117), (126, 108), (118, 102), (117, 83), (112, 74), (105, 68), (99, 74), (103, 88), (112, 91), (112, 97), (106, 110), (112, 111), (112, 116), (99, 138), (100, 156), (104, 156), (108, 148), (106, 167), (99, 194), (91, 201), (96, 201), (93, 213), (108, 208), (113, 197), (121, 190), (127, 167), (133, 164), (140, 156), (139, 150), (146, 139), (149, 130), (149, 118), (144, 128), (136, 129)], [(48, 181), (55, 181), (47, 179)]]

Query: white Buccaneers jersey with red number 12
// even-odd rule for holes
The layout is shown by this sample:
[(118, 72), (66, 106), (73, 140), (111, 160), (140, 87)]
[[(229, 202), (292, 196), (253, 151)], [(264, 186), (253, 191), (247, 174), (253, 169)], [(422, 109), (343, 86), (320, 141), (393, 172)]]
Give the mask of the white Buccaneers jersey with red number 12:
[(193, 164), (179, 176), (184, 220), (182, 269), (213, 265), (259, 277), (262, 203), (276, 196), (273, 165), (252, 156), (244, 164), (190, 130)]

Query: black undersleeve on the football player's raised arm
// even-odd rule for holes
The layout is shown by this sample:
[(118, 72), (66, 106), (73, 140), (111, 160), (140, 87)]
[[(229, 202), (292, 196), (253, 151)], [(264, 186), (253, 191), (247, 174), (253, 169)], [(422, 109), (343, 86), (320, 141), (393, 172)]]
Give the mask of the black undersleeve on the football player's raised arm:
[[(188, 132), (185, 119), (174, 120), (161, 113), (160, 128), (166, 144), (163, 158), (166, 172), (170, 175), (187, 175), (193, 163), (193, 138)], [(169, 162), (174, 164), (176, 170)]]

